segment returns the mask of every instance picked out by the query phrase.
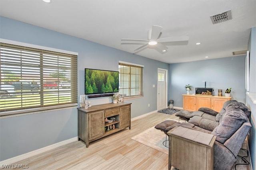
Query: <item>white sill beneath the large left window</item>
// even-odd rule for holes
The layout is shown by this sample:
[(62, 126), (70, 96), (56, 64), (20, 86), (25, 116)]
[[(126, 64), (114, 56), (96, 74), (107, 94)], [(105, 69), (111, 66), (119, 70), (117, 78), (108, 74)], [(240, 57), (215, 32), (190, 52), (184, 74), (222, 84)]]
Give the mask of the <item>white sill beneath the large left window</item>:
[(23, 110), (18, 110), (18, 111), (6, 111), (6, 112), (0, 113), (0, 119), (8, 118), (8, 117), (22, 116), (22, 115), (44, 113), (44, 112), (48, 112), (48, 111), (62, 110), (67, 107), (77, 107), (77, 106), (78, 106), (78, 104), (66, 104), (66, 105), (60, 105), (60, 106), (49, 106), (49, 107), (41, 107), (41, 108), (35, 108), (35, 109), (23, 109)]

